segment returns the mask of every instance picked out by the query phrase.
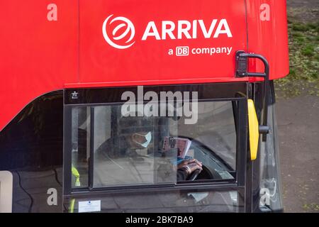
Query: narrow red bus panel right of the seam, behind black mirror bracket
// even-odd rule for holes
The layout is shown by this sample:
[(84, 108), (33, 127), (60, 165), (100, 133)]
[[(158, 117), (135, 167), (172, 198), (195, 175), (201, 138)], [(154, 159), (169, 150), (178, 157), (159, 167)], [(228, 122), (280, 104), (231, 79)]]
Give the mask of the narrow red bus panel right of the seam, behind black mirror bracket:
[[(289, 74), (286, 1), (247, 1), (247, 24), (248, 51), (267, 58), (270, 79), (286, 77)], [(259, 60), (250, 61), (251, 72), (262, 72), (263, 67)]]

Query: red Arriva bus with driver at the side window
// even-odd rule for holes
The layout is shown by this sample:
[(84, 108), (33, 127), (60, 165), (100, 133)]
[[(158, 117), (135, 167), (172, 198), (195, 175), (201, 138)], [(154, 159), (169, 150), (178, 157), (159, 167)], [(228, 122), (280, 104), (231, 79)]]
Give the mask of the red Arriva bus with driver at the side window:
[(286, 1), (0, 11), (1, 212), (283, 210), (273, 81), (289, 74)]

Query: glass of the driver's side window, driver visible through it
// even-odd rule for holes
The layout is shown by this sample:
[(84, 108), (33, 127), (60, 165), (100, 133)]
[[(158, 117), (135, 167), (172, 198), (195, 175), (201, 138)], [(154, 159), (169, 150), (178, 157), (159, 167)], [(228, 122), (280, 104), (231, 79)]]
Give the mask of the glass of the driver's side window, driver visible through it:
[(77, 170), (72, 168), (72, 187), (88, 186), (91, 149), (94, 187), (175, 184), (187, 180), (178, 172), (179, 163), (188, 159), (203, 163), (196, 180), (234, 179), (232, 101), (199, 102), (193, 124), (183, 116), (123, 116), (121, 108), (72, 108), (72, 167)]

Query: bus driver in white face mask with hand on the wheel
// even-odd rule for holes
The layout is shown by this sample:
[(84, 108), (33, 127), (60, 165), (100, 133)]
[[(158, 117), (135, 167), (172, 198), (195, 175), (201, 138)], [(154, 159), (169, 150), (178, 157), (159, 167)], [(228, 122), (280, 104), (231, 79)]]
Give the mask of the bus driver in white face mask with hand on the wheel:
[[(102, 143), (94, 153), (97, 164), (94, 182), (103, 182), (101, 184), (152, 182), (150, 166), (154, 165), (154, 157), (139, 155), (138, 150), (147, 150), (153, 145), (151, 143), (154, 140), (153, 127), (153, 118), (121, 117), (118, 122), (118, 133), (113, 132), (113, 136)], [(171, 172), (174, 169), (177, 172), (175, 179), (183, 181), (194, 171), (201, 172), (202, 164), (196, 159), (191, 159), (184, 160), (175, 167), (167, 167)]]

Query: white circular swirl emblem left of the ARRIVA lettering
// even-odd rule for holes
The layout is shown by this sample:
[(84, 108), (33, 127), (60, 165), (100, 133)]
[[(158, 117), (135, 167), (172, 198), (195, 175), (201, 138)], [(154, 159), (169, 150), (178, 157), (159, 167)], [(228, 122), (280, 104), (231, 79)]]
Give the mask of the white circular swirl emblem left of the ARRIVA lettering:
[(132, 21), (123, 16), (118, 16), (111, 20), (112, 16), (113, 14), (106, 18), (102, 27), (106, 42), (113, 48), (130, 48), (135, 43), (135, 41), (132, 42), (135, 35)]

